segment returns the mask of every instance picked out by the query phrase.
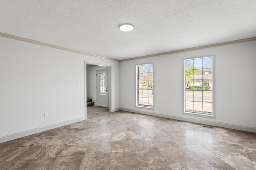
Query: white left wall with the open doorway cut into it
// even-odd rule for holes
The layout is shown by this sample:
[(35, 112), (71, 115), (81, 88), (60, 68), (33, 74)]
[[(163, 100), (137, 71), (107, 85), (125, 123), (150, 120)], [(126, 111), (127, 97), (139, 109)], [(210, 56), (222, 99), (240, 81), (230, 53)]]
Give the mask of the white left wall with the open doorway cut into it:
[(85, 62), (112, 66), (119, 108), (119, 62), (0, 37), (0, 143), (85, 119)]

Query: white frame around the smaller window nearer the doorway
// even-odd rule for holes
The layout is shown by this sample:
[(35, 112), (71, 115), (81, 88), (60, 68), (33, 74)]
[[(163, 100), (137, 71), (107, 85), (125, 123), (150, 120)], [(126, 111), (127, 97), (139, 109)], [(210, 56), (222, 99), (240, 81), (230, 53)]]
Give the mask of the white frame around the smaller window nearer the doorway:
[[(139, 92), (139, 90), (143, 89), (143, 88), (139, 87), (139, 83), (138, 83), (138, 66), (142, 66), (142, 65), (146, 65), (146, 64), (152, 64), (152, 66), (153, 66), (153, 68), (152, 68), (153, 69), (153, 72), (152, 72), (152, 74), (153, 74), (153, 80), (152, 80), (152, 85), (153, 85), (153, 87), (152, 87), (152, 95), (153, 95), (152, 100), (153, 100), (153, 104), (152, 104), (152, 107), (151, 106), (139, 105), (139, 102), (138, 102), (138, 100), (139, 100), (138, 92)], [(136, 106), (135, 107), (136, 108), (154, 110), (154, 86), (155, 86), (155, 84), (154, 84), (154, 63), (135, 64), (135, 78), (136, 78), (136, 80), (135, 80), (135, 83), (136, 83), (136, 85), (135, 85), (135, 87), (136, 87)]]

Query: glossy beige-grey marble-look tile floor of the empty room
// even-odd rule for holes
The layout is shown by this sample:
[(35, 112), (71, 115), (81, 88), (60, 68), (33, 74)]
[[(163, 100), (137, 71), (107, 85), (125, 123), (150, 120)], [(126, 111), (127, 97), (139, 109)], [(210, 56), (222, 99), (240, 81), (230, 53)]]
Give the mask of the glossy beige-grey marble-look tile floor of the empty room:
[(0, 170), (256, 170), (256, 133), (127, 111), (0, 143)]

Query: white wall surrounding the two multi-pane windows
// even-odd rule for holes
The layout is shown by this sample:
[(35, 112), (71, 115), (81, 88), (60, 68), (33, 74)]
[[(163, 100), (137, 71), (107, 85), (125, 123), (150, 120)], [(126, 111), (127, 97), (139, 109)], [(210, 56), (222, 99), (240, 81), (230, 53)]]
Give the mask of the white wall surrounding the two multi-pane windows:
[[(216, 119), (182, 114), (182, 58), (206, 55), (215, 55)], [(135, 107), (135, 64), (151, 62), (154, 62), (154, 111)], [(127, 111), (256, 132), (255, 73), (256, 41), (123, 61), (120, 62), (120, 107)]]

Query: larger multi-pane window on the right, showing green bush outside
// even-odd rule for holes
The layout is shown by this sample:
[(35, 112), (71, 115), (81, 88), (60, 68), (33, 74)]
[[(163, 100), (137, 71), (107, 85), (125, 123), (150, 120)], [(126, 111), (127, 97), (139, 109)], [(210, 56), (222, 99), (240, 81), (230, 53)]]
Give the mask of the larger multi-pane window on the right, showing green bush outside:
[(184, 113), (213, 117), (213, 56), (184, 59)]

